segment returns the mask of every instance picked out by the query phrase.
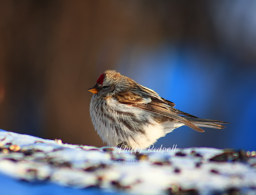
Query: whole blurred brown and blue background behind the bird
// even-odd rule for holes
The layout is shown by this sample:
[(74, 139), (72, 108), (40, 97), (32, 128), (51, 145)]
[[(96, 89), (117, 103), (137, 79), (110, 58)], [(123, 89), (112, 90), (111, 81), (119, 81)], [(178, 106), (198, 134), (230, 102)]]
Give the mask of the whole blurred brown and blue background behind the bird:
[(0, 129), (103, 146), (91, 88), (115, 69), (176, 108), (229, 122), (160, 147), (255, 150), (256, 1), (0, 1)]

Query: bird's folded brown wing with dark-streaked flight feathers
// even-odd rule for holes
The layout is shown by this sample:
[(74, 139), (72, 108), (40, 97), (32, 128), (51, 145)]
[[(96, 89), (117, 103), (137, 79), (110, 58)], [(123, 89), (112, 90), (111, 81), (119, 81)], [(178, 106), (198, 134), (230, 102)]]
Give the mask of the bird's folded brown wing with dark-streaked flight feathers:
[(195, 131), (204, 132), (204, 130), (200, 129), (186, 118), (180, 116), (179, 114), (182, 113), (179, 110), (173, 108), (173, 105), (175, 105), (174, 103), (161, 99), (159, 96), (141, 96), (135, 92), (122, 92), (117, 94), (115, 99), (121, 104), (141, 108), (143, 110), (176, 119), (179, 122), (183, 122), (185, 125), (191, 129), (194, 129)]

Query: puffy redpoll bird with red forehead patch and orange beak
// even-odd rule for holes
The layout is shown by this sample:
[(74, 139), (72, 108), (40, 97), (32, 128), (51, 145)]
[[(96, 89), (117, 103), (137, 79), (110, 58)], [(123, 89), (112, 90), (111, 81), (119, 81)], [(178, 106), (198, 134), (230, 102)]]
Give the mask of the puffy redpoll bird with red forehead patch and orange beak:
[(93, 88), (92, 123), (109, 146), (147, 148), (173, 129), (186, 125), (223, 129), (223, 121), (201, 119), (174, 108), (175, 104), (115, 70), (106, 70)]

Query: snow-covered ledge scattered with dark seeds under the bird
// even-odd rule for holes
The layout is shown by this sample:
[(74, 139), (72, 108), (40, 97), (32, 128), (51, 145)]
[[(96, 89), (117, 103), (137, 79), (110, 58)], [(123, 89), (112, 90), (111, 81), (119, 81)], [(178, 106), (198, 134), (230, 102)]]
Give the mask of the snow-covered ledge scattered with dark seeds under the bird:
[[(172, 151), (173, 150), (173, 151)], [(127, 194), (256, 193), (256, 153), (215, 148), (119, 148), (62, 144), (0, 130), (0, 172), (61, 186)]]

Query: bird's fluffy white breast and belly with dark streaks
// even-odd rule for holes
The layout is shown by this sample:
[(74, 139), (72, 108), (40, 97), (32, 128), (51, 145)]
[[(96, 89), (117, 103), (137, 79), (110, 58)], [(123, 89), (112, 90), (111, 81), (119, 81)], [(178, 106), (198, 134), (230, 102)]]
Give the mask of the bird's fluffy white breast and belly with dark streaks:
[(127, 142), (131, 147), (146, 148), (167, 133), (149, 111), (120, 104), (110, 98), (101, 103), (96, 99), (93, 96), (91, 100), (91, 119), (95, 130), (109, 146)]

